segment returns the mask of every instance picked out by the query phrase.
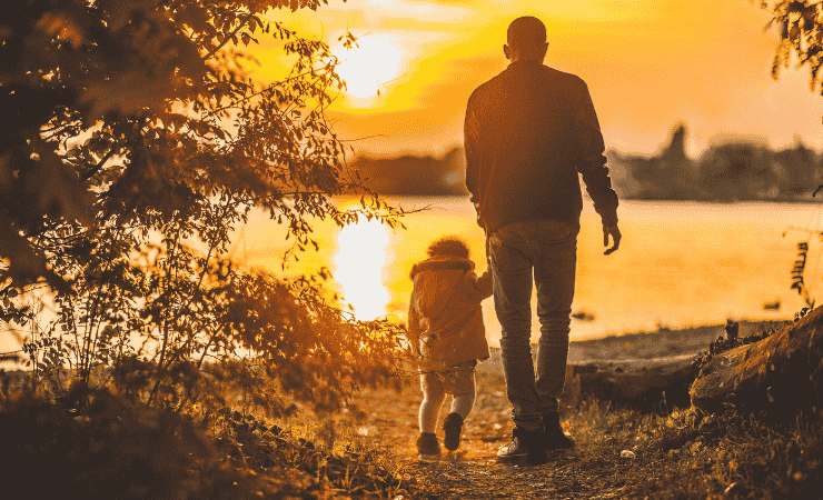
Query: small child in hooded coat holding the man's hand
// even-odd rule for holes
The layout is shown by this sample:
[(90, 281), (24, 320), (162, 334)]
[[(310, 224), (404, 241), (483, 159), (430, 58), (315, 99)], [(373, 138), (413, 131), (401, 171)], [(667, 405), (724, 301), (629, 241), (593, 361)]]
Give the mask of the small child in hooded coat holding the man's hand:
[(428, 247), (428, 259), (412, 269), (414, 290), (408, 312), (412, 346), (419, 357), (420, 459), (440, 453), (435, 426), (446, 394), (452, 409), (443, 422), (444, 444), (460, 443), (463, 421), (475, 401), (475, 364), (488, 359), (480, 302), (492, 294), (492, 277), (477, 278), (466, 243), (443, 238)]

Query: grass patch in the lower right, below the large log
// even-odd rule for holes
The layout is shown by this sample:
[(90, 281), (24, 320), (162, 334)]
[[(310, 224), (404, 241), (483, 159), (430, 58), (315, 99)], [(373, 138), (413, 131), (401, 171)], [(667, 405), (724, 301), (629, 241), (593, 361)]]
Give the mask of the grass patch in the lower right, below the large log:
[[(823, 430), (807, 413), (791, 422), (675, 410), (658, 416), (587, 401), (569, 416), (581, 469), (602, 491), (632, 498), (817, 498)], [(633, 459), (617, 450), (628, 450)], [(573, 491), (569, 491), (573, 493)]]

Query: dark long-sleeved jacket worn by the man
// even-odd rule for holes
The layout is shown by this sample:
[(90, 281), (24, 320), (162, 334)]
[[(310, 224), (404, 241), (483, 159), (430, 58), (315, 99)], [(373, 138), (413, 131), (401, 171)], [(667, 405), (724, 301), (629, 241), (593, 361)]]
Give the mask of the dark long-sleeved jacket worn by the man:
[(574, 74), (509, 64), (472, 93), (465, 148), (466, 186), (487, 231), (524, 220), (578, 221), (578, 172), (604, 223), (617, 221), (597, 114)]

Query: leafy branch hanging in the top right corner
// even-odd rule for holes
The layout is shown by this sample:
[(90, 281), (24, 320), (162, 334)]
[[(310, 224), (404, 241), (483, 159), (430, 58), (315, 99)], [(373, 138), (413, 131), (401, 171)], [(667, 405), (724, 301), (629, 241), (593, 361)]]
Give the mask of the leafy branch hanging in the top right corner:
[(772, 19), (769, 26), (779, 30), (777, 49), (772, 74), (777, 78), (781, 68), (787, 68), (792, 54), (799, 67), (807, 67), (812, 90), (820, 86), (823, 94), (823, 2), (819, 0), (761, 0)]

